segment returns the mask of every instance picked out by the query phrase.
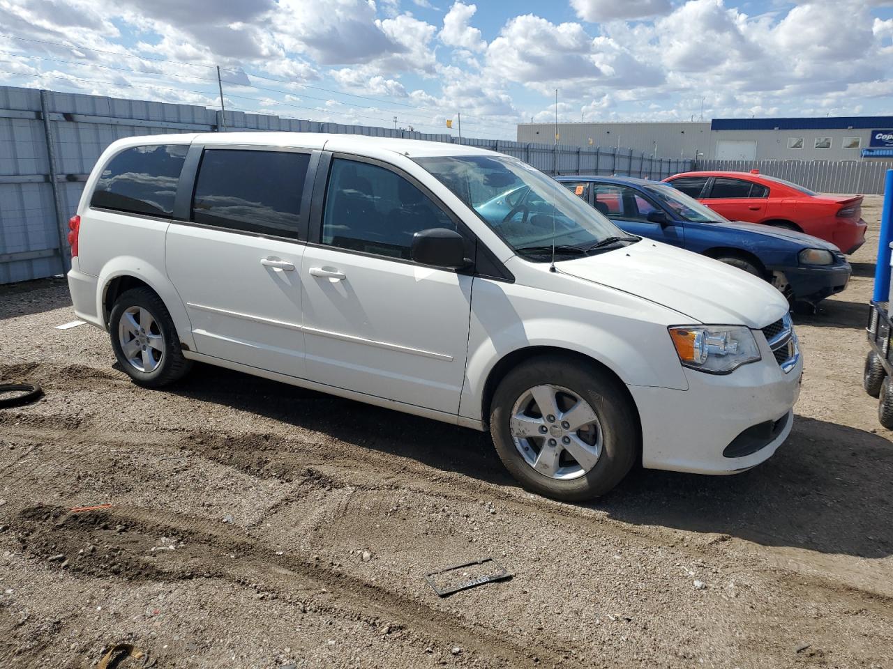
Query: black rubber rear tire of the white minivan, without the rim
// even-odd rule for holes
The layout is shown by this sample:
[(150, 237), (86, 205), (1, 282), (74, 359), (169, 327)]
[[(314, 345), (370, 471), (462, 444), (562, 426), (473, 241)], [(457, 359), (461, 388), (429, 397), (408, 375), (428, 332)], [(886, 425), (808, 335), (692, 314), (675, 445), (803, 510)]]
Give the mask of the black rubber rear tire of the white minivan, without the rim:
[[(158, 326), (157, 334), (162, 336), (159, 364), (150, 372), (134, 367), (121, 349), (121, 337), (119, 336), (121, 318), (124, 318), (127, 310), (134, 307), (144, 309), (151, 314)], [(109, 317), (109, 335), (118, 363), (135, 384), (146, 388), (159, 388), (179, 380), (192, 367), (192, 361), (183, 357), (171, 314), (164, 306), (162, 299), (148, 288), (131, 288), (129, 291), (121, 293), (115, 300), (112, 314)]]

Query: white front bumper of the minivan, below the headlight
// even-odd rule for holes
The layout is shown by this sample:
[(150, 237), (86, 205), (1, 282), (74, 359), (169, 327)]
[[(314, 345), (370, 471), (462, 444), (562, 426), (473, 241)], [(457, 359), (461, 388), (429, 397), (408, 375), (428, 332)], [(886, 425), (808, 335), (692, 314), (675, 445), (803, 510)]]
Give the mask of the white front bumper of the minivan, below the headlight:
[[(763, 359), (724, 376), (685, 369), (689, 390), (628, 386), (642, 425), (642, 465), (695, 474), (734, 474), (759, 465), (788, 438), (803, 358), (781, 370), (760, 333)], [(743, 457), (723, 450), (748, 428), (781, 418), (771, 441)], [(734, 451), (727, 451), (734, 452)]]

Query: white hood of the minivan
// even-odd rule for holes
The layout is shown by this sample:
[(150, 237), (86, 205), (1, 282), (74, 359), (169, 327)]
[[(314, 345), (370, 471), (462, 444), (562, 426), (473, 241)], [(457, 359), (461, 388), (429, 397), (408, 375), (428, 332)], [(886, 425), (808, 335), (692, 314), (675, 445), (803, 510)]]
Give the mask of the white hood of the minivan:
[(638, 295), (711, 325), (760, 328), (789, 310), (788, 301), (763, 279), (648, 239), (565, 260), (556, 267), (573, 277)]

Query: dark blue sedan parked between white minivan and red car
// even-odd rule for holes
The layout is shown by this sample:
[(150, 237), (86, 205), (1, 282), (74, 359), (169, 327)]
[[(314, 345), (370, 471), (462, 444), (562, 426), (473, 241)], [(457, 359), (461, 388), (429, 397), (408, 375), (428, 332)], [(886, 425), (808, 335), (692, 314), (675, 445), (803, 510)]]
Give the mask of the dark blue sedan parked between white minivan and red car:
[(763, 277), (789, 301), (817, 304), (847, 287), (837, 246), (793, 230), (731, 222), (672, 186), (626, 177), (559, 177), (618, 227)]

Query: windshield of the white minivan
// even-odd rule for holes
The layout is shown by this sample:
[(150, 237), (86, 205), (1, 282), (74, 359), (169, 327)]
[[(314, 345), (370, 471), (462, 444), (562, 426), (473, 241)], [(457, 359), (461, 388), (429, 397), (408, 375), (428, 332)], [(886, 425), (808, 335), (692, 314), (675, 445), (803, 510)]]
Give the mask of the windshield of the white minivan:
[[(472, 208), (526, 260), (570, 260), (638, 241), (553, 178), (509, 156), (435, 156), (415, 161)], [(600, 245), (599, 245), (600, 244)], [(616, 245), (614, 244), (614, 245)]]

